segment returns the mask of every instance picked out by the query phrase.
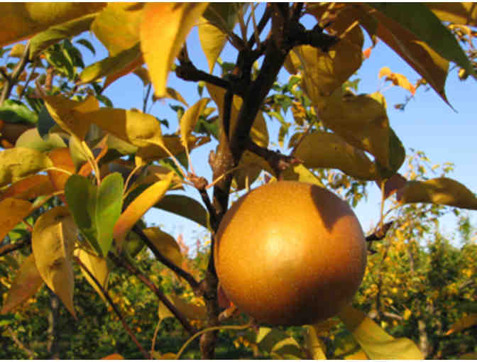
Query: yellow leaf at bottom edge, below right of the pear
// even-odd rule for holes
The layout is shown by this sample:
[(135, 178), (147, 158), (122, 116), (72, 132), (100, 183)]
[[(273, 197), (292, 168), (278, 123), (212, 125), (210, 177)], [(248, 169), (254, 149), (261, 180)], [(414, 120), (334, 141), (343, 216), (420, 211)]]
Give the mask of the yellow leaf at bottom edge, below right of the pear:
[(393, 338), (373, 319), (348, 305), (339, 318), (370, 359), (422, 359), (422, 352), (407, 338)]

